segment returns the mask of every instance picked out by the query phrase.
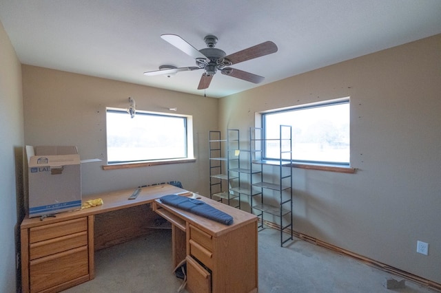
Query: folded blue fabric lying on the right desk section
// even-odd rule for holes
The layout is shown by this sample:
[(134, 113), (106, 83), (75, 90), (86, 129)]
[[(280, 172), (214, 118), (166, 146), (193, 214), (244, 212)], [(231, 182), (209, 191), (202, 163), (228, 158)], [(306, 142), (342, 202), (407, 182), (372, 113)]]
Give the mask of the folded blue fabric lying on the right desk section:
[(160, 199), (163, 204), (168, 204), (169, 206), (187, 210), (195, 215), (206, 217), (207, 219), (212, 219), (213, 221), (217, 221), (225, 225), (233, 224), (232, 216), (218, 210), (217, 208), (213, 208), (209, 204), (206, 204), (199, 199), (180, 195), (164, 195)]

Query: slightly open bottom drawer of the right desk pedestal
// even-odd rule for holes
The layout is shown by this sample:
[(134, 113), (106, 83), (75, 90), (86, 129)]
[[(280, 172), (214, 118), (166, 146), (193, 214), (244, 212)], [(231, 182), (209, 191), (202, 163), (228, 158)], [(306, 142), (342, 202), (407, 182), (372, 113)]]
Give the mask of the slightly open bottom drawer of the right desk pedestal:
[(192, 257), (187, 259), (187, 291), (190, 293), (212, 292), (212, 275)]

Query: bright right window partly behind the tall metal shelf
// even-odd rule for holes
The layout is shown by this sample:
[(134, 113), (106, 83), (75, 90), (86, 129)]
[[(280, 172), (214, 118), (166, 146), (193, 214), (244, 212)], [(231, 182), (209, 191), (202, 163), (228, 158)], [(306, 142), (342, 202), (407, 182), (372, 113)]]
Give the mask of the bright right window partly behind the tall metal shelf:
[[(292, 127), (292, 158), (299, 163), (349, 166), (349, 98), (262, 113), (266, 139)], [(279, 159), (278, 144), (264, 146), (265, 158)]]

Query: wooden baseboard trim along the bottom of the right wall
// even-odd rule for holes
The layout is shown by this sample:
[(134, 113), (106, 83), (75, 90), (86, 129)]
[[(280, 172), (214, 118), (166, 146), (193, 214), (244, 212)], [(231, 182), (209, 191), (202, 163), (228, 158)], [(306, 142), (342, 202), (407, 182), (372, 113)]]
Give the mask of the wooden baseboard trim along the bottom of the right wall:
[[(277, 230), (280, 230), (280, 226), (264, 221), (266, 226), (269, 226), (271, 228), (275, 228)], [(336, 252), (338, 254), (345, 255), (347, 257), (351, 257), (352, 259), (356, 259), (357, 261), (360, 261), (362, 263), (365, 263), (367, 265), (372, 266), (373, 268), (377, 268), (379, 270), (383, 270), (385, 272), (389, 272), (391, 274), (395, 274), (396, 276), (400, 276), (404, 279), (408, 279), (409, 281), (413, 281), (415, 283), (418, 283), (419, 285), (422, 285), (424, 287), (428, 287), (429, 289), (436, 290), (438, 292), (441, 292), (441, 284), (436, 283), (434, 281), (431, 281), (429, 279), (424, 279), (420, 276), (417, 276), (416, 274), (411, 274), (410, 272), (405, 272), (404, 270), (400, 270), (398, 268), (394, 268), (391, 265), (387, 265), (385, 263), (381, 263), (380, 261), (375, 261), (373, 259), (369, 259), (369, 257), (364, 257), (360, 254), (356, 254), (354, 252), (351, 252), (349, 250), (345, 250), (343, 248), (339, 248), (338, 246), (334, 246), (332, 244), (329, 244), (325, 241), (321, 241), (320, 239), (316, 239), (314, 237), (311, 237), (309, 235), (305, 235), (303, 233), (293, 231), (292, 235), (294, 237), (297, 237), (298, 239), (302, 239), (304, 241), (307, 241), (309, 243), (313, 243), (317, 246), (321, 246), (323, 248), (327, 248), (333, 252)]]

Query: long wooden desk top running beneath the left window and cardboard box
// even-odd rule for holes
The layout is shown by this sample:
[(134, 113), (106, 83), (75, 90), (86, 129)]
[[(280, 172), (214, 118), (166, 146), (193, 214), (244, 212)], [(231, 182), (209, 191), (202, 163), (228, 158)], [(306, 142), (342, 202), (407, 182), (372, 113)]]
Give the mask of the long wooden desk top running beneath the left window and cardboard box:
[(172, 186), (170, 184), (158, 184), (154, 186), (147, 186), (141, 188), (136, 199), (128, 199), (130, 195), (136, 190), (136, 188), (125, 189), (122, 191), (111, 191), (106, 193), (97, 193), (94, 195), (84, 196), (83, 202), (89, 199), (103, 199), (103, 205), (94, 206), (91, 208), (84, 208), (83, 210), (72, 210), (63, 213), (57, 213), (56, 217), (47, 217), (40, 220), (40, 217), (29, 218), (25, 216), (21, 222), (21, 229), (32, 228), (46, 224), (57, 223), (59, 221), (65, 221), (68, 219), (76, 219), (78, 217), (85, 217), (89, 215), (96, 215), (101, 213), (110, 212), (112, 210), (120, 210), (122, 208), (130, 208), (132, 206), (140, 206), (141, 204), (148, 204), (163, 195), (171, 195), (176, 193), (185, 193), (185, 189)]

